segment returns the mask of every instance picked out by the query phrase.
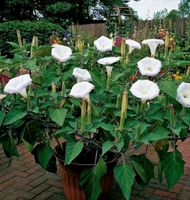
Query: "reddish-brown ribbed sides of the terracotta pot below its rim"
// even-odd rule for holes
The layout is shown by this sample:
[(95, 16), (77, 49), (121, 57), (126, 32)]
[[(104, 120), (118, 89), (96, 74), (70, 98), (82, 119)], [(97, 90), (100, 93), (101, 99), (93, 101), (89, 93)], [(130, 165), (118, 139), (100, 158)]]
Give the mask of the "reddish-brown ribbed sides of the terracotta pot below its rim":
[[(79, 172), (76, 172), (73, 169), (70, 169), (68, 166), (64, 166), (60, 162), (61, 168), (61, 180), (64, 190), (64, 194), (67, 200), (87, 200), (84, 194), (84, 191), (79, 185)], [(101, 187), (102, 193), (99, 197), (99, 200), (106, 200), (107, 194), (112, 189), (113, 185), (113, 172), (108, 173), (102, 177)]]

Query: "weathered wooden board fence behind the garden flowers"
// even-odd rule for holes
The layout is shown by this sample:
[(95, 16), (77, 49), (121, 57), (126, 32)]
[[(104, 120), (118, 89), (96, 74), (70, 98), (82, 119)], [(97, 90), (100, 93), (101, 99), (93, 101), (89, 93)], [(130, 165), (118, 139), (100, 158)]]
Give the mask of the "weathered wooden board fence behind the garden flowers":
[[(164, 28), (180, 39), (185, 37), (187, 39), (190, 38), (190, 19), (178, 19), (174, 21), (139, 20), (133, 23), (130, 37), (138, 41), (141, 41), (144, 38), (155, 37), (157, 35), (158, 28)], [(73, 25), (73, 29), (76, 34), (86, 33), (94, 37), (108, 34), (105, 23)]]

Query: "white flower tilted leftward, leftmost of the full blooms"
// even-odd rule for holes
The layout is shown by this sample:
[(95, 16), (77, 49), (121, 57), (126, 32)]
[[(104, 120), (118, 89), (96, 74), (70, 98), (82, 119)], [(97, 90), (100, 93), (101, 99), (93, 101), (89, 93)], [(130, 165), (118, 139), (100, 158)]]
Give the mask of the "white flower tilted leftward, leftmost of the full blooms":
[(32, 84), (32, 79), (29, 74), (21, 75), (9, 80), (5, 85), (4, 92), (8, 94), (19, 93), (24, 98), (27, 98), (26, 87)]

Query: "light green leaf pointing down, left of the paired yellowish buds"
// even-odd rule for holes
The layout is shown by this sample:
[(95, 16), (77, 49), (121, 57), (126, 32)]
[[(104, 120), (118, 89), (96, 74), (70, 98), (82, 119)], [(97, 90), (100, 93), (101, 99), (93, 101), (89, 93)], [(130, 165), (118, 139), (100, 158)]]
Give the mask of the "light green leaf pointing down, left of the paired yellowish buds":
[(66, 115), (67, 115), (67, 109), (65, 109), (65, 108), (49, 110), (49, 116), (59, 126), (63, 126)]

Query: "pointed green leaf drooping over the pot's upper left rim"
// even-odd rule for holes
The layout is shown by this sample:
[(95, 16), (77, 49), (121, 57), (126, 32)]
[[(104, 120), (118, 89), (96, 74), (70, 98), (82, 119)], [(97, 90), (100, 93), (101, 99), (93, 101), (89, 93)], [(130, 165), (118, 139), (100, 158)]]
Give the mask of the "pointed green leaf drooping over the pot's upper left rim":
[(65, 153), (65, 164), (69, 165), (82, 151), (83, 142), (72, 142), (67, 143), (66, 145), (66, 153)]

